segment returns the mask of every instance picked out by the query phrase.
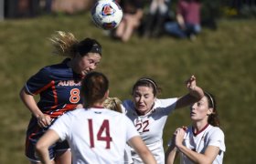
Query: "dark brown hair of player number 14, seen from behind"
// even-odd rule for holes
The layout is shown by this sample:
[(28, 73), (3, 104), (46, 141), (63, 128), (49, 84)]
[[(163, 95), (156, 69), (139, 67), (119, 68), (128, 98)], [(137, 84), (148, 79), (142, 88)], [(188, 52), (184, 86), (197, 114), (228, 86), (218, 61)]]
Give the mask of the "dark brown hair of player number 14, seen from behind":
[(100, 72), (91, 72), (83, 80), (81, 94), (84, 107), (91, 108), (94, 103), (103, 101), (103, 97), (109, 89), (109, 80)]

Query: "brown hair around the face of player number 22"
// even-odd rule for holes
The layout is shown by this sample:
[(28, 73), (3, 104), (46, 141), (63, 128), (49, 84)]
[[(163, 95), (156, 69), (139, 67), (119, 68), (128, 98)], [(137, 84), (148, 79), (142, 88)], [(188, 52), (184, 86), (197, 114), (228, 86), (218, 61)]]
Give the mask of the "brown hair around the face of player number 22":
[(139, 86), (152, 87), (153, 94), (155, 97), (161, 92), (161, 88), (157, 86), (155, 80), (149, 77), (142, 77), (138, 79), (136, 83), (133, 85), (133, 92), (134, 92), (134, 89)]

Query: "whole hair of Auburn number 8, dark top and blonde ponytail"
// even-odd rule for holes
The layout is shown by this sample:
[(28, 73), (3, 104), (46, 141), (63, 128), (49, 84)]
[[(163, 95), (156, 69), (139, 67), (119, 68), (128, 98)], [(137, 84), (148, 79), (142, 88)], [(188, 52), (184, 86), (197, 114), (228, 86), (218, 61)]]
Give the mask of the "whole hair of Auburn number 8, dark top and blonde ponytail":
[(52, 35), (49, 39), (54, 46), (53, 54), (59, 56), (68, 56), (73, 58), (76, 54), (86, 56), (89, 52), (101, 55), (100, 43), (89, 37), (78, 41), (72, 33), (57, 31), (56, 34)]

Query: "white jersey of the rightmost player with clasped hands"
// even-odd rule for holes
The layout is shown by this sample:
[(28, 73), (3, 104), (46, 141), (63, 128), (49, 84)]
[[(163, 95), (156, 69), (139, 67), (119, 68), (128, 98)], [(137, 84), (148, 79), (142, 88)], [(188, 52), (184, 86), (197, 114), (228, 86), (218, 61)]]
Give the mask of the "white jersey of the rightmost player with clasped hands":
[[(221, 164), (226, 150), (224, 143), (224, 133), (218, 127), (208, 125), (203, 131), (200, 131), (197, 136), (194, 136), (192, 127), (187, 129), (187, 133), (184, 137), (183, 145), (188, 149), (193, 149), (197, 153), (203, 154), (208, 146), (219, 147), (219, 154), (214, 159), (213, 164)], [(187, 158), (183, 153), (180, 153), (180, 163), (192, 164), (193, 162)]]

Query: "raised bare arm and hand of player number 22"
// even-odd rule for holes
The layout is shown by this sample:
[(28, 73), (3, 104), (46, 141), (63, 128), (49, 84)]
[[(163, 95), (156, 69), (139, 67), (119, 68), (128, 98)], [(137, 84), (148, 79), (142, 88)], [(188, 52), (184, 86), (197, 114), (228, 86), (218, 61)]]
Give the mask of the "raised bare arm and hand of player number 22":
[(186, 86), (189, 93), (183, 97), (178, 98), (176, 102), (176, 108), (187, 107), (204, 97), (204, 91), (201, 87), (197, 86), (197, 80), (195, 76), (188, 78)]

